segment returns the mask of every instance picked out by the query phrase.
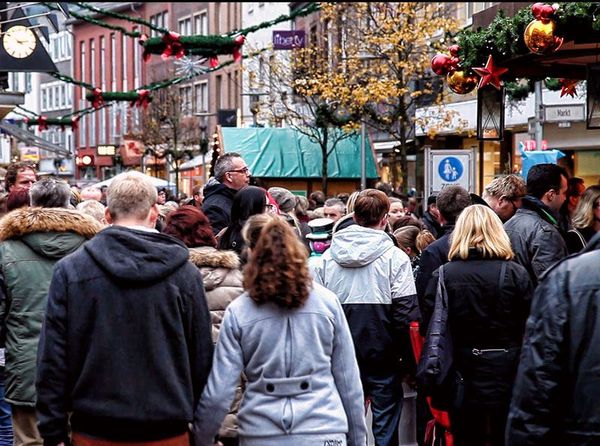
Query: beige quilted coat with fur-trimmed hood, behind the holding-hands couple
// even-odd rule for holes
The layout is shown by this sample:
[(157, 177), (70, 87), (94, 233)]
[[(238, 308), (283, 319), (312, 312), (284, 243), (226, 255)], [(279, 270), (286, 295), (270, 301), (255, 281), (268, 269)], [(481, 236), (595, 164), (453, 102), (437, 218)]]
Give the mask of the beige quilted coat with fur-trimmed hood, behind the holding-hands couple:
[[(191, 248), (190, 261), (200, 269), (204, 280), (212, 320), (212, 338), (216, 344), (227, 305), (244, 292), (240, 259), (233, 251), (219, 251), (205, 246)], [(237, 437), (237, 411), (242, 394), (242, 386), (239, 386), (229, 414), (219, 430), (219, 436)]]

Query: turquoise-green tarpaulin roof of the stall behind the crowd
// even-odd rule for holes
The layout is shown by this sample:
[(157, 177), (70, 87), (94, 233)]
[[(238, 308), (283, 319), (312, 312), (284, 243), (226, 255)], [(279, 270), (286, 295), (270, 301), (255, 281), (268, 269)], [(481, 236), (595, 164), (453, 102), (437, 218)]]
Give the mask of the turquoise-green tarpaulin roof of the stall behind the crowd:
[[(291, 128), (221, 129), (225, 152), (237, 152), (250, 167), (252, 176), (260, 178), (321, 178), (322, 154), (318, 144)], [(339, 141), (329, 154), (327, 177), (360, 179), (360, 134)], [(367, 178), (378, 173), (371, 144), (366, 140)]]

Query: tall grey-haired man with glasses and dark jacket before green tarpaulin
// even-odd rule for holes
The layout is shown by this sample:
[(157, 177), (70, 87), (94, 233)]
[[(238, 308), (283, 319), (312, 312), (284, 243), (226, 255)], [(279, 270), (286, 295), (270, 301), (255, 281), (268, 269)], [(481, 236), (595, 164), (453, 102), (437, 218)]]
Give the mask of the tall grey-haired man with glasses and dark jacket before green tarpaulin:
[(229, 226), (231, 204), (236, 192), (250, 183), (250, 170), (239, 153), (221, 155), (215, 163), (215, 176), (204, 188), (202, 210), (215, 234)]

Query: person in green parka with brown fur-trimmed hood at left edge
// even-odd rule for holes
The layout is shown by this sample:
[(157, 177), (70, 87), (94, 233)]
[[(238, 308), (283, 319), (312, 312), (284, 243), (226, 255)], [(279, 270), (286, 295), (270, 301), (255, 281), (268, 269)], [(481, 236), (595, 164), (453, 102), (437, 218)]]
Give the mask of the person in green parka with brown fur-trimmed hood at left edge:
[(44, 178), (31, 186), (32, 207), (0, 220), (0, 320), (6, 324), (6, 401), (15, 445), (42, 445), (35, 415), (37, 346), (54, 264), (92, 238), (101, 226), (66, 209), (69, 185)]

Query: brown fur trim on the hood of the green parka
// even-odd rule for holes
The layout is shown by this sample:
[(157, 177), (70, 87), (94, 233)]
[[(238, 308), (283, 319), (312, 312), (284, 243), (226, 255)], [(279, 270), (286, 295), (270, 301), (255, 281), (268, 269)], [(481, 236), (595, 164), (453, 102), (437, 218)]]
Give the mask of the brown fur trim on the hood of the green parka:
[(0, 220), (0, 241), (40, 232), (74, 232), (92, 238), (102, 225), (72, 209), (19, 208)]

